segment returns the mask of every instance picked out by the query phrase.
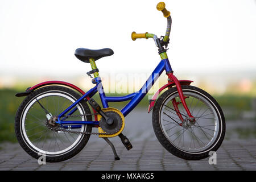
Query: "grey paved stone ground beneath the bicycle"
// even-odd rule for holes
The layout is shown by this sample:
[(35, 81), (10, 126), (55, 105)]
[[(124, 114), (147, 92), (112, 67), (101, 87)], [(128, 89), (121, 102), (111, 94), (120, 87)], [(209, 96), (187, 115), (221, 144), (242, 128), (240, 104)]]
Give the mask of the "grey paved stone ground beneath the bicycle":
[[(19, 144), (6, 143), (0, 145), (0, 170), (256, 170), (256, 139), (235, 138), (232, 128), (236, 122), (227, 122), (232, 139), (224, 140), (217, 151), (217, 164), (210, 165), (208, 159), (187, 161), (166, 151), (155, 137), (151, 114), (142, 116), (141, 111), (135, 111), (126, 121), (124, 134), (133, 149), (127, 151), (118, 137), (110, 139), (121, 160), (115, 161), (109, 145), (97, 136), (72, 159), (46, 165), (39, 165)], [(255, 122), (242, 126), (254, 127)]]

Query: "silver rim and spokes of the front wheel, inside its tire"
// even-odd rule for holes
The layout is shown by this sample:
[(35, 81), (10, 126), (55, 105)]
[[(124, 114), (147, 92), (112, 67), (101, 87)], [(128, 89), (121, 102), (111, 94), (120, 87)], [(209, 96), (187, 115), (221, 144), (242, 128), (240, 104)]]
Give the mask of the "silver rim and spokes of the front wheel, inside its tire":
[[(176, 98), (176, 101), (180, 101), (180, 99), (179, 94), (174, 92), (163, 101), (163, 105), (160, 107), (160, 127), (168, 141), (179, 150), (190, 154), (201, 154), (209, 151), (217, 143), (216, 140), (220, 136), (218, 133), (222, 128), (219, 121), (221, 117), (218, 117), (220, 114), (216, 111), (217, 107), (213, 102), (200, 92), (184, 89), (183, 93), (184, 96), (189, 96), (185, 101), (192, 115), (196, 117), (196, 122), (186, 127), (184, 127), (184, 122), (183, 126), (178, 125), (181, 121), (176, 111), (172, 110), (174, 106), (171, 104), (171, 100)], [(188, 117), (183, 105), (179, 104), (178, 107), (180, 113), (183, 114), (181, 116)]]

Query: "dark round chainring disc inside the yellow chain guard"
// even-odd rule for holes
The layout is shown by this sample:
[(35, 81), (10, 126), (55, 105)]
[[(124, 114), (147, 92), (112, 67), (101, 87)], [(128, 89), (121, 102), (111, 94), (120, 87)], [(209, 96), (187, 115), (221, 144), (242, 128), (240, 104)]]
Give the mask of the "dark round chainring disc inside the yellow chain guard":
[(101, 118), (100, 127), (103, 131), (108, 134), (115, 134), (122, 129), (123, 122), (121, 116), (118, 113), (116, 113), (115, 111), (105, 111), (105, 114), (113, 119), (113, 124), (108, 125), (108, 123), (106, 123), (106, 120), (104, 118)]

